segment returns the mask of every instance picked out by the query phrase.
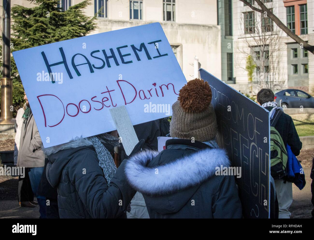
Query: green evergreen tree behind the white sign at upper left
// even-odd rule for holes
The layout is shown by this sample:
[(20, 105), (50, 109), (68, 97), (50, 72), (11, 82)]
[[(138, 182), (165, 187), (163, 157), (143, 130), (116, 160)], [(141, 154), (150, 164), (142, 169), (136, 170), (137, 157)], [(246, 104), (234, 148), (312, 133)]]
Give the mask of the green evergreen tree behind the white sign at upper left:
[[(14, 5), (11, 8), (11, 52), (82, 37), (96, 29), (96, 16), (88, 17), (84, 14), (84, 8), (90, 4), (90, 0), (75, 4), (66, 11), (57, 7), (59, 0), (27, 1), (35, 6), (26, 8)], [(11, 75), (13, 77), (13, 105), (16, 110), (24, 102), (24, 89), (12, 55)]]

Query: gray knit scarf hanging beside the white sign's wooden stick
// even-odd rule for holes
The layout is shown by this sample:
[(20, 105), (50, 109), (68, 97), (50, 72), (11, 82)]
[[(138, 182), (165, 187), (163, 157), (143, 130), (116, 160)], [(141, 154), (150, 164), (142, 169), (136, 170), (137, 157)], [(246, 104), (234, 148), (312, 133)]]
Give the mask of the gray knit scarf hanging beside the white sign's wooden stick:
[(103, 133), (96, 136), (88, 137), (88, 140), (93, 143), (99, 160), (99, 166), (104, 172), (109, 187), (110, 179), (116, 173), (117, 168), (111, 156), (111, 153), (106, 149), (106, 147), (104, 147), (103, 143), (110, 144), (113, 147), (116, 147), (119, 146), (119, 138), (107, 133)]

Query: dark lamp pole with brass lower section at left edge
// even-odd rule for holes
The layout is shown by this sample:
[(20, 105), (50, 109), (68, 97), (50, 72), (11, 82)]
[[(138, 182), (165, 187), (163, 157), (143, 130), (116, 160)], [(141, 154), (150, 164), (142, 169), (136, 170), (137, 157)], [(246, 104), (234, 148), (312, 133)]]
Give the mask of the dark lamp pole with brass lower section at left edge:
[(11, 78), (11, 0), (3, 0), (3, 32), (2, 32), (3, 76), (1, 82), (1, 114), (0, 124), (14, 124)]

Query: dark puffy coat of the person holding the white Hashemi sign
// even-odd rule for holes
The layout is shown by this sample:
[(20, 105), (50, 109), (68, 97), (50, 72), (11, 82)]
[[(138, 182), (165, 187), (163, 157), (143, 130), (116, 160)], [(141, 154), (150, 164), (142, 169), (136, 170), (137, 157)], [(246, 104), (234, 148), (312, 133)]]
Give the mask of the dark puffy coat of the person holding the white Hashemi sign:
[(125, 161), (108, 186), (89, 140), (79, 138), (43, 151), (49, 159), (47, 179), (57, 187), (60, 218), (126, 217), (135, 191), (125, 180)]

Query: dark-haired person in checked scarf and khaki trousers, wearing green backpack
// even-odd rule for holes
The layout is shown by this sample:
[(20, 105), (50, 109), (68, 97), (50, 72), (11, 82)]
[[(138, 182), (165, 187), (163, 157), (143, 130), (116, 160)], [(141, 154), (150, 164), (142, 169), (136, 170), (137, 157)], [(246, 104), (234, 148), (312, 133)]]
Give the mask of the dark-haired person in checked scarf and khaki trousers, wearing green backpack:
[[(275, 95), (271, 89), (263, 88), (257, 93), (257, 102), (270, 111), (270, 119), (273, 118), (277, 109), (282, 110), (282, 108), (277, 107), (277, 103), (274, 99)], [(298, 156), (302, 148), (302, 142), (300, 141), (292, 118), (284, 112), (281, 113), (278, 122), (275, 125), (275, 129), (280, 134), (284, 146), (286, 147), (288, 144), (294, 155)], [(289, 207), (293, 200), (292, 183), (285, 179), (275, 179), (274, 181), (279, 205), (279, 218), (290, 218), (291, 213)]]

